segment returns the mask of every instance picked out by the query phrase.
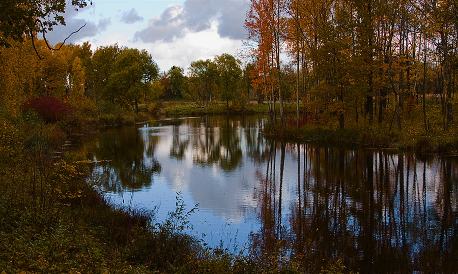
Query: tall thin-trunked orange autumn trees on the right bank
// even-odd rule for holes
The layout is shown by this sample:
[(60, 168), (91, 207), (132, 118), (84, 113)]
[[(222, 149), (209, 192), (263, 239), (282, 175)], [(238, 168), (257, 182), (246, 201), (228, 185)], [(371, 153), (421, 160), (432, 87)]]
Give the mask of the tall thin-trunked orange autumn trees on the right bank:
[(251, 0), (245, 27), (253, 88), (267, 96), (271, 117), (279, 112), (283, 126), (288, 69), (296, 78), (298, 127), (300, 112), (334, 119), (340, 129), (349, 120), (381, 124), (395, 116), (400, 132), (403, 113), (421, 106), (428, 131), (429, 94), (443, 129), (453, 123), (455, 0)]

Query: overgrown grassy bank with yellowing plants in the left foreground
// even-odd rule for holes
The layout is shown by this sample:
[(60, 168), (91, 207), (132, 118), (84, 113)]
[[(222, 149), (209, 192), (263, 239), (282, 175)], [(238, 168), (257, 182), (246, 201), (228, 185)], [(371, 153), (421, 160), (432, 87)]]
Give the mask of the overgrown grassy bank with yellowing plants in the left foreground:
[(147, 273), (199, 257), (196, 240), (153, 228), (151, 212), (107, 202), (88, 164), (59, 153), (59, 127), (2, 122), (1, 273)]

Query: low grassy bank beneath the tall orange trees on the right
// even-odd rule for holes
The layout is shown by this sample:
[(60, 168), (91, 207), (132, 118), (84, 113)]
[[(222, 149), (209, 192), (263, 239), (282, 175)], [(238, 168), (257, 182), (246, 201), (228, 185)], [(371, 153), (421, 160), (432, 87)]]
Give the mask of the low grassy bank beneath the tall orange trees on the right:
[(419, 154), (458, 155), (458, 128), (453, 125), (449, 131), (443, 130), (439, 123), (436, 127), (424, 130), (422, 121), (414, 118), (403, 120), (401, 132), (389, 123), (349, 123), (344, 130), (338, 129), (329, 121), (310, 119), (302, 121), (297, 128), (297, 120), (287, 121), (287, 127), (267, 123), (264, 133), (273, 138), (291, 141), (313, 141), (341, 147), (362, 146), (399, 151), (414, 151)]

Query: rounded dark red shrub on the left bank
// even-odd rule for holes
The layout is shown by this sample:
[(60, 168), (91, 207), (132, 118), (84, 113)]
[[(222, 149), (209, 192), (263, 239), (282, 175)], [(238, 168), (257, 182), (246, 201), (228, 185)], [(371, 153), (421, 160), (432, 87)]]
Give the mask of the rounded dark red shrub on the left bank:
[(66, 116), (70, 115), (72, 108), (52, 96), (42, 96), (27, 100), (23, 106), (23, 110), (35, 110), (46, 123), (54, 123), (63, 120)]

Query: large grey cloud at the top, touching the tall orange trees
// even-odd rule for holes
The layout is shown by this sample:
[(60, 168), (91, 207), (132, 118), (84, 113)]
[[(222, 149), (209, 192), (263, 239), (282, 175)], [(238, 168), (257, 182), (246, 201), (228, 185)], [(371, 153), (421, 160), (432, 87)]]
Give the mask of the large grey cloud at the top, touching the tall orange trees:
[(133, 40), (168, 43), (188, 33), (210, 29), (212, 22), (216, 22), (217, 33), (221, 38), (246, 39), (243, 24), (248, 4), (248, 0), (186, 0), (183, 6), (169, 5), (161, 15), (149, 21), (148, 27), (136, 32)]

